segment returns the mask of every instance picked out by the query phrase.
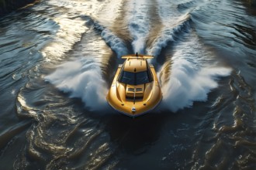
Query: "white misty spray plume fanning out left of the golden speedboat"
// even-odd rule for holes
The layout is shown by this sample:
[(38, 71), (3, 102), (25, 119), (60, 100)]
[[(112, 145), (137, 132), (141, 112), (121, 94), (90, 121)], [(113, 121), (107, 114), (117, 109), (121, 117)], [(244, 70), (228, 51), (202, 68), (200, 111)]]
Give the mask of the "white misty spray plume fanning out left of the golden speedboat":
[(80, 97), (91, 110), (106, 109), (106, 83), (99, 66), (92, 59), (64, 63), (45, 80), (70, 93), (70, 97)]

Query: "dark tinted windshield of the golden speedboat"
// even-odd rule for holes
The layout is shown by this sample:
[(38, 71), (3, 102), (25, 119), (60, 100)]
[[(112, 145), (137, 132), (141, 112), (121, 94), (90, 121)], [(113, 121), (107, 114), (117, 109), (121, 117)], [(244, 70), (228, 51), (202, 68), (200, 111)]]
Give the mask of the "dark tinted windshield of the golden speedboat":
[(128, 71), (123, 71), (119, 76), (120, 83), (126, 83), (130, 85), (149, 83), (151, 78), (149, 77), (147, 71), (142, 71), (138, 73), (132, 73)]

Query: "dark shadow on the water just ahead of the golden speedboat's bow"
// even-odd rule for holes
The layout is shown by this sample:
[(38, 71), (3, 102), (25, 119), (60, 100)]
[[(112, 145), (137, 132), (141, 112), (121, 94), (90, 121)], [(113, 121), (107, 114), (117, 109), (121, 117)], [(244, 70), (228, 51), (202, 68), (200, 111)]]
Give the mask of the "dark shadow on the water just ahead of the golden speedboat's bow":
[(140, 117), (115, 114), (107, 118), (106, 131), (118, 148), (133, 155), (140, 155), (154, 145), (161, 135), (164, 120), (171, 114), (149, 113)]

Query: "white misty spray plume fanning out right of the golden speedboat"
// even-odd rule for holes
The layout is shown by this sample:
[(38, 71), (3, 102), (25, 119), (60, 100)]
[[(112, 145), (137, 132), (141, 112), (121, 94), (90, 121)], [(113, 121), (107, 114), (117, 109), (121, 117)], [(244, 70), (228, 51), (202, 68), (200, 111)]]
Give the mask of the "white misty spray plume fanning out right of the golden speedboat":
[(174, 59), (171, 78), (162, 87), (161, 107), (176, 112), (192, 107), (194, 101), (206, 101), (207, 94), (218, 87), (218, 77), (230, 72), (230, 68), (210, 66), (198, 70), (186, 59)]

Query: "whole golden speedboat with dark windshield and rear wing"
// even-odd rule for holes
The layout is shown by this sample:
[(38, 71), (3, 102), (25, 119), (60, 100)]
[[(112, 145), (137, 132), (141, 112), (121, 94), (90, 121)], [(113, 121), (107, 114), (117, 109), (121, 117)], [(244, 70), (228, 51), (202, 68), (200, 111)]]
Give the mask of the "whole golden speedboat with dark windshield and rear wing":
[(161, 87), (154, 66), (147, 62), (154, 56), (132, 54), (119, 64), (106, 96), (109, 105), (122, 114), (137, 117), (161, 102)]

